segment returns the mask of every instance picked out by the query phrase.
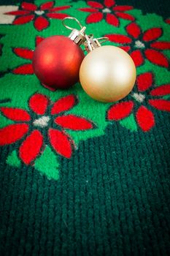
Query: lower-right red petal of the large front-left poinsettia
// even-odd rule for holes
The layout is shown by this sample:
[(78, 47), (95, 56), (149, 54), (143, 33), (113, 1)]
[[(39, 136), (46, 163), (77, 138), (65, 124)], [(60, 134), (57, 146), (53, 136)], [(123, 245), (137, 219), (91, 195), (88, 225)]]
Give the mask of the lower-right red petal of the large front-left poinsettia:
[(58, 154), (70, 158), (72, 156), (72, 140), (58, 129), (49, 129), (50, 143)]

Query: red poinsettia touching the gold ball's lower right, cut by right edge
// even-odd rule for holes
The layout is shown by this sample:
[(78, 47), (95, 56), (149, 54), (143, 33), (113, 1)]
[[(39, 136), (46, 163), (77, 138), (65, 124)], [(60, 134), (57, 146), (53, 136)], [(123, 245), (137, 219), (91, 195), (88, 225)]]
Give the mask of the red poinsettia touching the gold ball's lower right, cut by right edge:
[(152, 72), (145, 72), (137, 77), (134, 91), (128, 95), (135, 101), (129, 99), (112, 105), (107, 112), (107, 119), (121, 120), (129, 116), (134, 109), (137, 124), (147, 132), (155, 125), (155, 117), (150, 110), (152, 107), (170, 112), (170, 101), (161, 98), (166, 94), (170, 94), (170, 84), (155, 87)]

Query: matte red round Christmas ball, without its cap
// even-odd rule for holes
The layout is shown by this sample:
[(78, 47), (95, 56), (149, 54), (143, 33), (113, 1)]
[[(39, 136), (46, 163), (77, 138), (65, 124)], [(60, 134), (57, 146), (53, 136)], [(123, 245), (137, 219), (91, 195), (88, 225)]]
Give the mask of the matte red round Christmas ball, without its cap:
[(80, 46), (69, 37), (47, 37), (34, 51), (34, 73), (45, 86), (67, 89), (79, 80), (84, 57)]

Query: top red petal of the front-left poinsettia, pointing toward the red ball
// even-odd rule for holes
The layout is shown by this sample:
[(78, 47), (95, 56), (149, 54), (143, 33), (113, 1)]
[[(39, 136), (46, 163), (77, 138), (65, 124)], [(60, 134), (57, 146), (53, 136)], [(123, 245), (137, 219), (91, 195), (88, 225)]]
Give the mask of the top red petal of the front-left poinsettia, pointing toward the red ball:
[(29, 99), (29, 108), (38, 115), (44, 115), (47, 110), (49, 99), (43, 94), (34, 94)]

